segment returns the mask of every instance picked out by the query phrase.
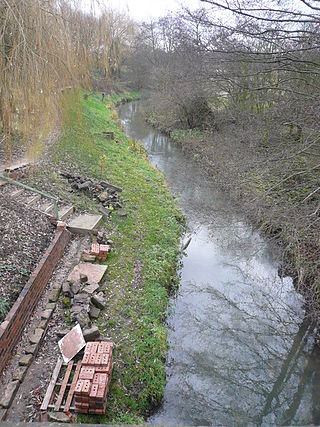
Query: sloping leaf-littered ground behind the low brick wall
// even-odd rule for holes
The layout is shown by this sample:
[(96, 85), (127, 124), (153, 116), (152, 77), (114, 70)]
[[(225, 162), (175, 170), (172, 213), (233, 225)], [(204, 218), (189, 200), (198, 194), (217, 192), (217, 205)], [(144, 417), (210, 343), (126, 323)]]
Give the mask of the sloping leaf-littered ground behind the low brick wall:
[(54, 227), (42, 213), (0, 192), (0, 322), (49, 246)]

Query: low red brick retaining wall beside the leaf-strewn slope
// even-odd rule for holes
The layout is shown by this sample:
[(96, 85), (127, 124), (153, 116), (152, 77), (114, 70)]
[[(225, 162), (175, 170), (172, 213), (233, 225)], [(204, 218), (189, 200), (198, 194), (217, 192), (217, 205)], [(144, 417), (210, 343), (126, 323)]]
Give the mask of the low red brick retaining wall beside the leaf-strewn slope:
[(18, 299), (0, 325), (0, 373), (11, 358), (21, 334), (32, 315), (51, 275), (63, 255), (71, 234), (57, 231), (35, 271), (22, 289)]

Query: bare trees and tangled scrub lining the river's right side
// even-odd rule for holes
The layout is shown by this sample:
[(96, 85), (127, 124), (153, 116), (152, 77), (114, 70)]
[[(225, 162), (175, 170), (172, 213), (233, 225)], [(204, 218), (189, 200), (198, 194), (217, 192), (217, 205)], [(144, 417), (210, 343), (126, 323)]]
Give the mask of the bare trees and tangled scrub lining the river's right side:
[[(203, 0), (144, 23), (127, 78), (149, 121), (183, 142), (283, 248), (282, 274), (320, 286), (320, 8)], [(309, 292), (310, 289), (312, 292)]]

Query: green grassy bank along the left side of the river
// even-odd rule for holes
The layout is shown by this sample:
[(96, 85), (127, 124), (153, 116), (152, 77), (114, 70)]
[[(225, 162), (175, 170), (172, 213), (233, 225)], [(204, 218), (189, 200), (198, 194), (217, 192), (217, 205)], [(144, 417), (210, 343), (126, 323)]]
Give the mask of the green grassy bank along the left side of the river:
[[(113, 108), (119, 101), (121, 96), (102, 103), (101, 97), (85, 100), (70, 94), (59, 141), (42, 171), (31, 178), (80, 211), (95, 212), (98, 205), (83, 194), (70, 194), (57, 170), (104, 179), (123, 188), (127, 217), (113, 212), (105, 224), (114, 250), (107, 260), (107, 308), (98, 319), (101, 333), (116, 344), (107, 414), (82, 416), (81, 422), (143, 422), (161, 402), (165, 386), (164, 322), (169, 291), (177, 280), (183, 217), (143, 147), (121, 129)], [(103, 131), (113, 131), (115, 140), (106, 140)]]

